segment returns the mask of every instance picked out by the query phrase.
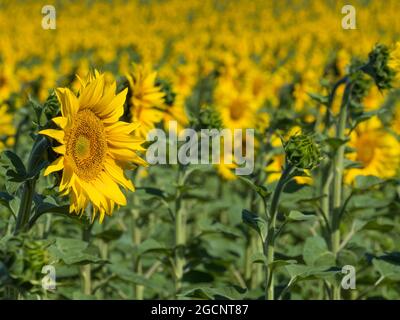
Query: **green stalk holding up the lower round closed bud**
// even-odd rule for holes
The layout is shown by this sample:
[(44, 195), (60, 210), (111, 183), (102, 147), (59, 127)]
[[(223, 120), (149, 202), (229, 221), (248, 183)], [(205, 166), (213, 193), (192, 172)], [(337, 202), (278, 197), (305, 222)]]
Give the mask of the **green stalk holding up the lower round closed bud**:
[(271, 268), (270, 265), (274, 262), (275, 257), (275, 231), (279, 199), (282, 194), (283, 188), (288, 182), (287, 178), (292, 173), (293, 169), (294, 168), (291, 165), (285, 165), (285, 169), (283, 170), (281, 178), (278, 181), (271, 201), (268, 234), (264, 242), (264, 255), (267, 258), (267, 266), (265, 270), (265, 298), (267, 300), (274, 300), (274, 274), (273, 268)]

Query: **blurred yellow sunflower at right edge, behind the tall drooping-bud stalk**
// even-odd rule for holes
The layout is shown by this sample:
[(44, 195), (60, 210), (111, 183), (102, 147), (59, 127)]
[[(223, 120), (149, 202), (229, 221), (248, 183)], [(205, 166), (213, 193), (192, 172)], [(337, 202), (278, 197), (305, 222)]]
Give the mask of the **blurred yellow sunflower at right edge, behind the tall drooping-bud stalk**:
[(373, 175), (391, 178), (396, 175), (400, 164), (400, 143), (382, 128), (375, 116), (361, 123), (350, 135), (349, 146), (354, 152), (348, 158), (361, 164), (345, 175), (346, 183), (354, 181), (358, 175)]

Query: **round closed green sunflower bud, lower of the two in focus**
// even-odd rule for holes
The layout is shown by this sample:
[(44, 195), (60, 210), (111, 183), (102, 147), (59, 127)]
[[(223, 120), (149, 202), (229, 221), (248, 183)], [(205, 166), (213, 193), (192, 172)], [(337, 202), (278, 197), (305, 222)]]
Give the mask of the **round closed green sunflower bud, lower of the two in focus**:
[(284, 142), (284, 148), (289, 164), (299, 169), (312, 169), (322, 159), (319, 145), (309, 134), (292, 135)]

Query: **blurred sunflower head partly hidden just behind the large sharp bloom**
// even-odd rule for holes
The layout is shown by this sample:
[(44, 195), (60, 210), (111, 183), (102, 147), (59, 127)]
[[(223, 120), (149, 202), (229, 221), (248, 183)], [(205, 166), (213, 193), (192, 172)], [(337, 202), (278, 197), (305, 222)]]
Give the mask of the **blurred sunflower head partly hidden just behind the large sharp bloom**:
[(159, 123), (164, 116), (164, 96), (156, 85), (157, 72), (149, 65), (133, 65), (133, 72), (127, 75), (132, 91), (130, 111), (132, 122), (140, 123), (135, 135), (146, 138), (147, 133)]

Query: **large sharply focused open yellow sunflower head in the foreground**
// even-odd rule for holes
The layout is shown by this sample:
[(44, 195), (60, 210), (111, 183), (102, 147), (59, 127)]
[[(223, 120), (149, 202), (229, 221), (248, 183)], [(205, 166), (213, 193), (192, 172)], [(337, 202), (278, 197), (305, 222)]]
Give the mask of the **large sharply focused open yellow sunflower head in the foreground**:
[(63, 170), (59, 190), (69, 194), (70, 212), (82, 214), (91, 203), (92, 219), (98, 213), (100, 222), (106, 214), (112, 215), (115, 205), (126, 205), (119, 185), (134, 190), (124, 169), (146, 165), (137, 154), (144, 151), (144, 141), (132, 135), (139, 124), (119, 121), (127, 89), (115, 92), (116, 82), (107, 83), (97, 71), (81, 79), (78, 96), (68, 88), (58, 88), (61, 116), (53, 122), (60, 130), (40, 131), (60, 144), (54, 148), (60, 157), (44, 175)]

